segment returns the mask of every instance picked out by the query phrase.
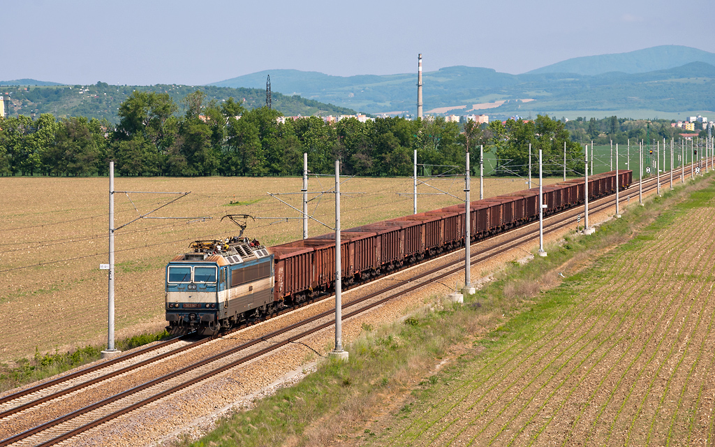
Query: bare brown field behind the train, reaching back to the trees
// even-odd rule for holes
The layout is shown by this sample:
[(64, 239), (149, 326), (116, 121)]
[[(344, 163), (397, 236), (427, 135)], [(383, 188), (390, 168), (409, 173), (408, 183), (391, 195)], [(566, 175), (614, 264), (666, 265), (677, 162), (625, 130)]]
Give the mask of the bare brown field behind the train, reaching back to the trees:
[[(545, 183), (558, 182), (548, 179)], [(191, 192), (152, 214), (155, 217), (212, 217), (209, 220), (138, 220), (116, 232), (117, 338), (164, 326), (164, 265), (193, 240), (237, 235), (226, 214), (246, 213), (276, 219), (249, 220), (245, 235), (266, 245), (300, 239), (298, 213), (267, 192), (299, 192), (302, 179), (289, 178), (135, 178), (117, 177), (117, 191)], [(432, 180), (440, 190), (463, 197), (463, 180)], [(310, 212), (333, 225), (334, 197), (317, 194), (334, 186), (332, 177), (315, 177)], [(478, 197), (478, 180), (472, 182)], [(522, 180), (485, 180), (485, 195), (526, 188)], [(107, 178), (0, 177), (0, 362), (39, 352), (106, 343), (108, 262)], [(341, 192), (342, 227), (412, 213), (411, 179), (352, 178)], [(436, 190), (420, 186), (420, 193)], [(401, 193), (401, 194), (400, 194)], [(405, 195), (407, 194), (407, 195)], [(172, 200), (176, 195), (115, 195), (115, 227)], [(131, 200), (130, 200), (131, 199)], [(300, 207), (299, 195), (282, 200)], [(236, 205), (231, 205), (234, 202)], [(418, 211), (454, 205), (448, 195), (421, 195)], [(311, 221), (309, 234), (330, 232)]]

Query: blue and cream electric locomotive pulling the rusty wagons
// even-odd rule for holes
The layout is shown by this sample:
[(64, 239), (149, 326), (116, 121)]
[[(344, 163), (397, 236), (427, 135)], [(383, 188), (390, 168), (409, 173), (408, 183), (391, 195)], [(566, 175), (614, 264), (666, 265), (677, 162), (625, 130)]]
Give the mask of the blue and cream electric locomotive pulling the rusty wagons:
[(216, 333), (273, 311), (273, 255), (257, 240), (196, 241), (166, 270), (170, 333)]

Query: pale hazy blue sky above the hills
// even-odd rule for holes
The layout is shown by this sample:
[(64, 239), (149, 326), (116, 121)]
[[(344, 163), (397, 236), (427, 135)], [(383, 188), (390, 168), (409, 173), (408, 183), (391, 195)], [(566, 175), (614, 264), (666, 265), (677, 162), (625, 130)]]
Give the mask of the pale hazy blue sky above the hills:
[(714, 14), (677, 5), (0, 0), (0, 80), (201, 85), (267, 69), (396, 74), (416, 72), (418, 53), (425, 72), (466, 65), (520, 74), (657, 45), (715, 52)]

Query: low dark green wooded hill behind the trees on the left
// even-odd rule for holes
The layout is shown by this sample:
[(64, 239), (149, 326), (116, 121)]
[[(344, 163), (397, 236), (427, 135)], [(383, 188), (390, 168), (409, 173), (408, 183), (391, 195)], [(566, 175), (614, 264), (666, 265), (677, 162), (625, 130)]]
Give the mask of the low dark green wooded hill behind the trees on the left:
[[(265, 105), (265, 86), (263, 89), (231, 89), (211, 86), (164, 85), (157, 84), (149, 87), (117, 86), (105, 82), (94, 85), (74, 86), (39, 86), (39, 87), (0, 87), (0, 94), (9, 97), (9, 114), (51, 113), (55, 117), (94, 117), (108, 119), (109, 122), (118, 121), (117, 110), (119, 104), (127, 99), (134, 90), (147, 92), (168, 93), (177, 104), (189, 93), (202, 90), (207, 96), (207, 101), (215, 99), (223, 101), (230, 97), (242, 100), (247, 109)], [(332, 104), (322, 104), (297, 96), (286, 96), (272, 92), (272, 108), (280, 110), (287, 116), (310, 116), (355, 114), (352, 109), (336, 107)], [(8, 103), (6, 103), (8, 104)]]

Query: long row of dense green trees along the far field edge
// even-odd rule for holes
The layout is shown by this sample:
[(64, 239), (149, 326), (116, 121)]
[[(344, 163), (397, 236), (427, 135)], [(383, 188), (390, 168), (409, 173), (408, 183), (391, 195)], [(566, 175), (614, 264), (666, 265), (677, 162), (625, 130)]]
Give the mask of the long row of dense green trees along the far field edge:
[(122, 176), (302, 175), (307, 152), (312, 172), (330, 172), (339, 158), (346, 175), (394, 177), (412, 175), (415, 149), (420, 164), (430, 165), (425, 173), (439, 175), (463, 170), (465, 152), (478, 172), (480, 145), (497, 159), (487, 172), (526, 175), (529, 144), (534, 154), (543, 150), (547, 175), (563, 170), (564, 144), (568, 172), (583, 172), (583, 149), (566, 123), (541, 115), (488, 125), (399, 117), (281, 123), (275, 109), (207, 101), (201, 91), (179, 104), (169, 94), (134, 91), (117, 114), (116, 127), (52, 114), (0, 121), (0, 175), (107, 175), (110, 159)]

